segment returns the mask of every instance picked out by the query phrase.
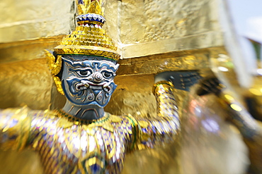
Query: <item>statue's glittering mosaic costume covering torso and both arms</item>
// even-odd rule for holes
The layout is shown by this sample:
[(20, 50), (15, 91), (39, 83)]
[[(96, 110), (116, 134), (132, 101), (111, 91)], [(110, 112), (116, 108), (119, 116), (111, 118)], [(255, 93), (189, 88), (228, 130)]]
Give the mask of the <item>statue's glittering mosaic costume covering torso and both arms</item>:
[[(169, 85), (156, 87), (159, 118), (113, 116), (84, 121), (62, 111), (0, 112), (0, 141), (6, 148), (38, 151), (45, 173), (120, 173), (125, 153), (173, 142), (180, 125)], [(21, 136), (18, 136), (21, 135)]]

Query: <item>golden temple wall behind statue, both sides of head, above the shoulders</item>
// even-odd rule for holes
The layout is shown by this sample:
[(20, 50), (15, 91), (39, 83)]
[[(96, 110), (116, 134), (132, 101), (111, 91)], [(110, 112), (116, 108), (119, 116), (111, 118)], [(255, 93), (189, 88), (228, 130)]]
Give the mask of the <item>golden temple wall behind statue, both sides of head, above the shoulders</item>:
[[(115, 79), (118, 89), (107, 111), (135, 114), (136, 108), (150, 115), (155, 112), (151, 86), (156, 73), (200, 70), (205, 74), (209, 68), (208, 58), (224, 52), (218, 22), (219, 5), (219, 0), (106, 1), (104, 28), (118, 44), (123, 58)], [(50, 103), (52, 108), (62, 107), (64, 98), (50, 85), (52, 78), (48, 77), (43, 50), (52, 50), (74, 29), (76, 8), (73, 1), (1, 1), (0, 6), (3, 8), (0, 22), (1, 108), (27, 104), (33, 109), (45, 109)], [(31, 69), (33, 66), (38, 69)], [(5, 70), (9, 70), (8, 73)], [(42, 77), (48, 77), (46, 86), (39, 85)], [(124, 85), (126, 81), (130, 85)], [(147, 86), (139, 86), (143, 82), (147, 82)], [(35, 104), (35, 96), (28, 89), (40, 93), (42, 90), (44, 98), (40, 97)], [(136, 92), (132, 93), (134, 90)], [(120, 96), (129, 98), (129, 102), (124, 102), (126, 98)], [(137, 100), (141, 96), (142, 99)], [(146, 101), (150, 104), (144, 110)], [(115, 105), (120, 105), (121, 109), (115, 110)]]

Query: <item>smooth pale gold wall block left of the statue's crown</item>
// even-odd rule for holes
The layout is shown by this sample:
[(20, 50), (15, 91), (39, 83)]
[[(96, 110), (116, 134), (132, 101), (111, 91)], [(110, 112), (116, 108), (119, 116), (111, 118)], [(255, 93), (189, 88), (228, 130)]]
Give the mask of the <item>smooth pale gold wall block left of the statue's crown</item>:
[(72, 0), (1, 1), (0, 43), (63, 35), (74, 28)]

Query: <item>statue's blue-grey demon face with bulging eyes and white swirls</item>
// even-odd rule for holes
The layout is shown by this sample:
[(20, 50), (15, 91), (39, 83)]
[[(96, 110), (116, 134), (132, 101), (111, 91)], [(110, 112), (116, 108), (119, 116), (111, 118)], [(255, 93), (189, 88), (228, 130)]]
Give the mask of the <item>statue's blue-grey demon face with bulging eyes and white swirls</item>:
[(118, 64), (96, 56), (64, 56), (62, 87), (75, 106), (108, 104), (117, 85), (113, 81)]

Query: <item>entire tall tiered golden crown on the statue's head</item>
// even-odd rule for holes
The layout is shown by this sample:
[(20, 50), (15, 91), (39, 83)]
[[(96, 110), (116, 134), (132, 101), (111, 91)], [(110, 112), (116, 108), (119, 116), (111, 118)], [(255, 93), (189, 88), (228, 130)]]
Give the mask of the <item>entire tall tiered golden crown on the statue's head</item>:
[(77, 0), (79, 26), (62, 39), (55, 53), (103, 56), (118, 61), (120, 55), (112, 39), (102, 29), (106, 19), (103, 18), (101, 0)]

